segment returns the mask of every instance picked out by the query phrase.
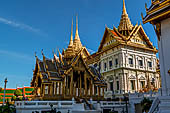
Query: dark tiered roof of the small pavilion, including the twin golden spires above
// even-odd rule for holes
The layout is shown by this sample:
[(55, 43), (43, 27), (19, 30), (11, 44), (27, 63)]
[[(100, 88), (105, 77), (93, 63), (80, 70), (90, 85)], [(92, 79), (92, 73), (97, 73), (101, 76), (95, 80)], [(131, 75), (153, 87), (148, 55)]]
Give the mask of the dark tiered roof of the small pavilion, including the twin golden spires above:
[(85, 69), (93, 77), (94, 82), (105, 85), (100, 73), (93, 65), (88, 66), (86, 64), (86, 58), (90, 56), (89, 52), (85, 47), (82, 46), (80, 37), (78, 34), (78, 21), (76, 22), (76, 34), (73, 40), (73, 22), (71, 27), (71, 38), (68, 48), (61, 54), (58, 50), (59, 57), (54, 54), (52, 59), (49, 59), (43, 55), (43, 60), (40, 60), (36, 56), (36, 66), (34, 70), (34, 76), (31, 82), (33, 86), (36, 79), (36, 75), (40, 72), (40, 78), (43, 82), (50, 80), (63, 81), (64, 77), (69, 74), (73, 67), (81, 60), (81, 64), (84, 65)]

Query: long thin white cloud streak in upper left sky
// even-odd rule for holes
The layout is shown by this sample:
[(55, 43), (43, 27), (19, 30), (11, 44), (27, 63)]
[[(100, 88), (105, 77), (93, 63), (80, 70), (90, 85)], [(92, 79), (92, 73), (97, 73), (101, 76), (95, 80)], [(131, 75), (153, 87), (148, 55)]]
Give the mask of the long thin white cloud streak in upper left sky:
[(31, 31), (31, 32), (37, 33), (37, 34), (42, 35), (42, 36), (47, 36), (47, 34), (43, 33), (40, 29), (33, 28), (30, 25), (14, 22), (14, 21), (2, 18), (2, 17), (0, 17), (0, 22), (4, 23), (4, 24), (7, 24), (7, 25), (10, 25), (10, 26), (13, 26), (13, 27), (16, 27), (16, 28), (20, 28), (20, 29), (25, 29), (25, 30)]

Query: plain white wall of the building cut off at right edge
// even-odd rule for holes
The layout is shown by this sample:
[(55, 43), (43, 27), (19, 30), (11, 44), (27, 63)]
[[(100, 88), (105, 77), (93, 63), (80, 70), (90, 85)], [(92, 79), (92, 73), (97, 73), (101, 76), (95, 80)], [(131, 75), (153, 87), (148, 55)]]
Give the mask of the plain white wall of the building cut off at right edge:
[(163, 95), (170, 95), (170, 18), (161, 22), (161, 38), (158, 41)]

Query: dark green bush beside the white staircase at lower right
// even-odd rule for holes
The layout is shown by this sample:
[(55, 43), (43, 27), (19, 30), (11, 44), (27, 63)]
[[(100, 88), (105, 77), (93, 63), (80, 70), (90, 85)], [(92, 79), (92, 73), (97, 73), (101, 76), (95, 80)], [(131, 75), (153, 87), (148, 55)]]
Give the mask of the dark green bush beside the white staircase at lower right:
[(148, 113), (150, 107), (152, 105), (152, 100), (148, 99), (148, 98), (144, 98), (142, 101), (141, 101), (141, 106), (142, 106), (142, 112), (146, 112)]

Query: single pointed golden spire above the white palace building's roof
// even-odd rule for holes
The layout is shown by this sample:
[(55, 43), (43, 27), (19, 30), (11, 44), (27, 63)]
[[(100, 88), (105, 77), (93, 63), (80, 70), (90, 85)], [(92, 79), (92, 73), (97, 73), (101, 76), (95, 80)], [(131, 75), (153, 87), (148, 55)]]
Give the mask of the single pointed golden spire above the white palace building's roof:
[(128, 35), (128, 32), (131, 31), (132, 28), (133, 28), (133, 25), (126, 12), (125, 0), (123, 0), (123, 11), (122, 11), (122, 16), (121, 16), (118, 30), (123, 35)]

